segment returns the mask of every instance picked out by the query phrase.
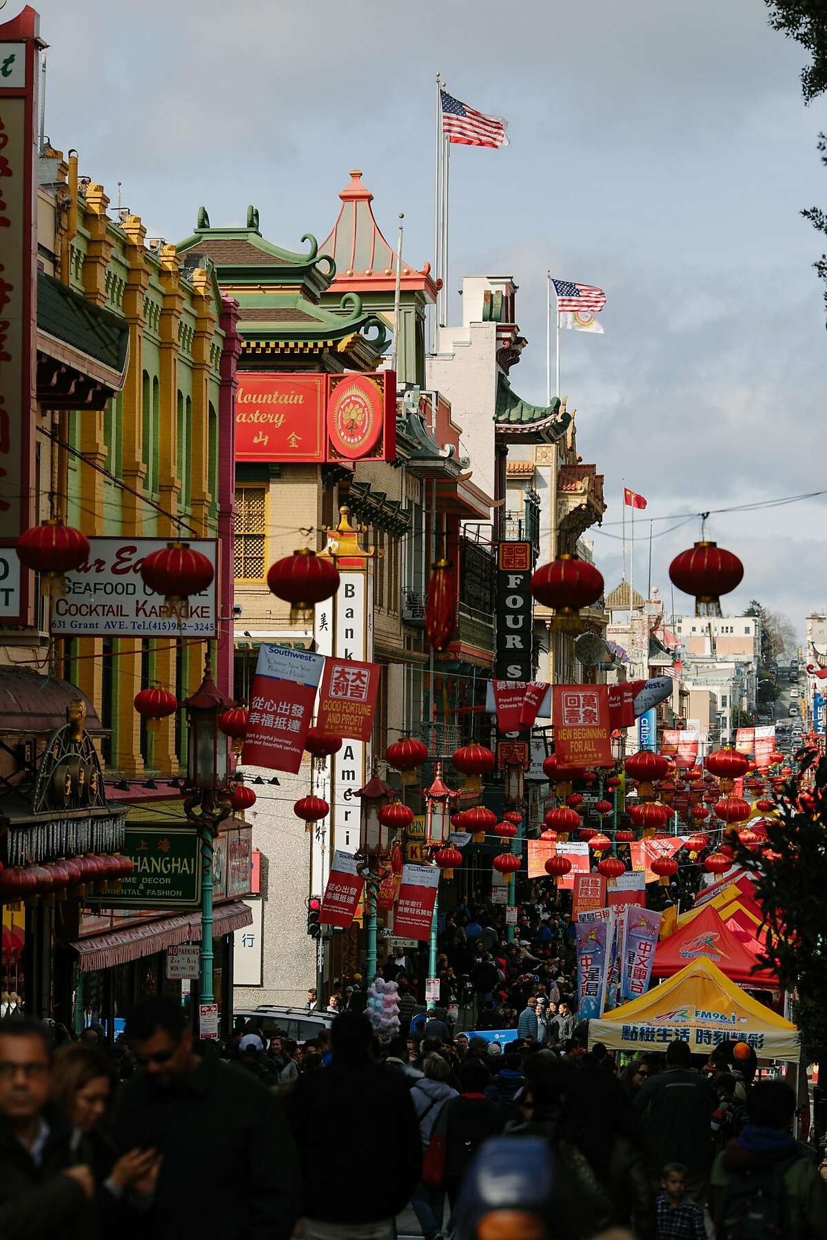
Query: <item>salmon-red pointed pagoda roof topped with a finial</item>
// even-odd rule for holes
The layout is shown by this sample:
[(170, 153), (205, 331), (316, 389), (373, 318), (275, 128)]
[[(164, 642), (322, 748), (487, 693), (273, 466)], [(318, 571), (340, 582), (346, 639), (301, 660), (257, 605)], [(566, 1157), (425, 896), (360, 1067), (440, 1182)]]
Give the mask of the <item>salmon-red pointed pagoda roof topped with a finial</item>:
[[(342, 205), (336, 223), (321, 243), (321, 249), (332, 254), (335, 263), (331, 291), (393, 291), (397, 253), (376, 222), (371, 206), (373, 195), (362, 184), (360, 169), (352, 169), (350, 176), (350, 182), (338, 195)], [(400, 284), (404, 291), (422, 291), (425, 300), (436, 300), (430, 263), (418, 270), (403, 260)]]

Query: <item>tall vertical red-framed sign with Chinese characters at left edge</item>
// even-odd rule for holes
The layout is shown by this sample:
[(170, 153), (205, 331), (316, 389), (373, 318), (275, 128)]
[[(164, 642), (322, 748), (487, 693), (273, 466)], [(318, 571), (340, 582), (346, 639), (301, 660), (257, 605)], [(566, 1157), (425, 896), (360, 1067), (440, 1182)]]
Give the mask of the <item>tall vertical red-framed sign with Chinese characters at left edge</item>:
[[(32, 523), (35, 494), (35, 118), (40, 17), (0, 26), (0, 547)], [(10, 562), (2, 559), (6, 573)], [(31, 624), (31, 573), (0, 595), (4, 621)], [(9, 582), (0, 582), (0, 585)]]

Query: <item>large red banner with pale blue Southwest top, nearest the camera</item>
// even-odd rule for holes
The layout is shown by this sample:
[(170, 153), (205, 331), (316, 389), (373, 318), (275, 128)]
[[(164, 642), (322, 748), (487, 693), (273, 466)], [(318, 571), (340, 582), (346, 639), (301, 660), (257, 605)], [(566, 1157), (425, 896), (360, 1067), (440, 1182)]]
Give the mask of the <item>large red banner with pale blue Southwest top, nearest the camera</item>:
[(312, 722), (324, 655), (262, 646), (250, 691), (242, 763), (296, 775)]

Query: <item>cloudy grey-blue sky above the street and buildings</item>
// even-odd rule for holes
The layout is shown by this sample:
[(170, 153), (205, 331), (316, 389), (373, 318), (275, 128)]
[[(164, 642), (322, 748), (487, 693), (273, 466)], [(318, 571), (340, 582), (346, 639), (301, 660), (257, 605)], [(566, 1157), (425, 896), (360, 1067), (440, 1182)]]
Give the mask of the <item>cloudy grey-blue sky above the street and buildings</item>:
[[(512, 381), (542, 402), (547, 268), (606, 290), (605, 336), (564, 334), (562, 387), (579, 450), (605, 474), (608, 584), (622, 477), (653, 517), (827, 487), (822, 246), (798, 216), (827, 206), (827, 104), (803, 107), (803, 53), (766, 26), (763, 0), (38, 7), (47, 134), (113, 200), (122, 181), (123, 203), (170, 241), (200, 203), (237, 223), (252, 202), (270, 241), (300, 248), (304, 232), (326, 236), (360, 167), (388, 236), (405, 212), (419, 265), (435, 72), (508, 119), (510, 148), (453, 151), (453, 306), (462, 274), (513, 273), (529, 347)], [(746, 567), (736, 601), (758, 596), (798, 630), (827, 608), (826, 500), (712, 518)], [(653, 584), (694, 537), (698, 522), (655, 538)]]

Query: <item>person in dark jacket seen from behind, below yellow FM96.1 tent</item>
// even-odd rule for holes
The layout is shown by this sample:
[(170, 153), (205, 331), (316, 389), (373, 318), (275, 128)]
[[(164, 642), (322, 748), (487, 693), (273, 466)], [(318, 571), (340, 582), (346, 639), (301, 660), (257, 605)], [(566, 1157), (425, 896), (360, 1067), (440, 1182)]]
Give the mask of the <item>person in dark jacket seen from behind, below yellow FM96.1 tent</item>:
[(666, 1071), (651, 1076), (635, 1097), (656, 1189), (666, 1163), (683, 1163), (687, 1195), (703, 1205), (714, 1152), (712, 1112), (717, 1105), (715, 1090), (692, 1066), (688, 1044), (671, 1042), (666, 1049)]

